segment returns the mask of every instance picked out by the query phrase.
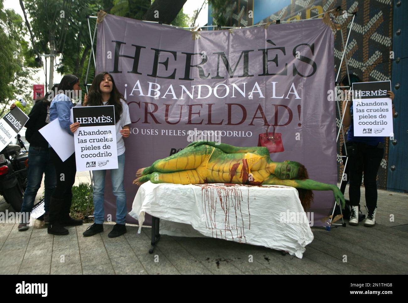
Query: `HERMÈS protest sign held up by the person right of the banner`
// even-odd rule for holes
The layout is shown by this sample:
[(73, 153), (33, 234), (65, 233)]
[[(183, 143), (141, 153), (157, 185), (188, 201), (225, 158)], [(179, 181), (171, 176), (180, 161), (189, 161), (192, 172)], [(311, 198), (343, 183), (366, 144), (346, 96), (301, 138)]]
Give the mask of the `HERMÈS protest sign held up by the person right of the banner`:
[(353, 83), (354, 136), (393, 136), (391, 81)]

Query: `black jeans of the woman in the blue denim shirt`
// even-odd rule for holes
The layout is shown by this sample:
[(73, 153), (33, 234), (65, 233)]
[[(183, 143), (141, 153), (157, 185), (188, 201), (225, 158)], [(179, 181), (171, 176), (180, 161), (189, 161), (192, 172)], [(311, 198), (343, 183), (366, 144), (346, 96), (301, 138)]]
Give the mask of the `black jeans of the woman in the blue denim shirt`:
[(72, 186), (75, 183), (76, 174), (75, 153), (62, 162), (54, 149), (50, 148), (50, 156), (55, 165), (55, 174), (57, 177), (57, 187), (51, 198), (64, 199), (72, 196)]

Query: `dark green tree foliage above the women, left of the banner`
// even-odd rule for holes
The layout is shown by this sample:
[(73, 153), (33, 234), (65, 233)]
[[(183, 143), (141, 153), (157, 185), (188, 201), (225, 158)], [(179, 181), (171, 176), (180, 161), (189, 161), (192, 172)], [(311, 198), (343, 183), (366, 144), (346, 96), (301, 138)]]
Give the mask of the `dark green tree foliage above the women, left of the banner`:
[[(31, 18), (30, 26), (38, 50), (45, 54), (55, 51), (56, 55), (60, 55), (60, 63), (56, 65), (56, 70), (62, 75), (76, 75), (81, 83), (84, 82), (91, 53), (86, 17), (95, 15), (102, 9), (102, 2), (100, 0), (24, 1), (24, 6)], [(93, 34), (95, 21), (91, 20), (90, 24)], [(93, 67), (91, 73), (94, 73)]]

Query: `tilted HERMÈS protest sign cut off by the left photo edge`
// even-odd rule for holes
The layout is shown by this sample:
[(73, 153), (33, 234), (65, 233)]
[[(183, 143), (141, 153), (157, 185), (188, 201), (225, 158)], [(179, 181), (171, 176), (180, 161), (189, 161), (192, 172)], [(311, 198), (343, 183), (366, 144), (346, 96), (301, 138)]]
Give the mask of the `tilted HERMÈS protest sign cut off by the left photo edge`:
[(0, 151), (17, 136), (28, 119), (28, 116), (17, 106), (0, 119)]

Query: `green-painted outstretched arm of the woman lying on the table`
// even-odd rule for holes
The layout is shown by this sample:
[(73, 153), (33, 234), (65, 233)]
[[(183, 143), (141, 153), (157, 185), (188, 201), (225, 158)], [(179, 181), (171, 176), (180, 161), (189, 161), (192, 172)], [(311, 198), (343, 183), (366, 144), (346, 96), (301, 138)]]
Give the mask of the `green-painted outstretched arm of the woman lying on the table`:
[(300, 189), (310, 189), (314, 191), (333, 191), (337, 204), (340, 205), (341, 203), (342, 209), (344, 209), (344, 207), (346, 206), (344, 195), (341, 193), (340, 189), (334, 184), (326, 184), (311, 179), (281, 180), (273, 175), (269, 176), (262, 184), (286, 185)]

